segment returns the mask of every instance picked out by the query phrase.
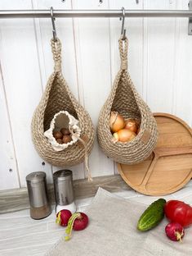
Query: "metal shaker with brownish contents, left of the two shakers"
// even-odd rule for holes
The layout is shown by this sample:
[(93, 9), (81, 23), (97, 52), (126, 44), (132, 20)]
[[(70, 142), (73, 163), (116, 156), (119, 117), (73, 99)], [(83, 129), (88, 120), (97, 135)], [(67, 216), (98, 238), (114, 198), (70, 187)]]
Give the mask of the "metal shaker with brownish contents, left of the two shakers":
[(51, 213), (51, 206), (47, 198), (46, 173), (36, 171), (26, 176), (30, 203), (30, 216), (33, 219), (47, 217)]

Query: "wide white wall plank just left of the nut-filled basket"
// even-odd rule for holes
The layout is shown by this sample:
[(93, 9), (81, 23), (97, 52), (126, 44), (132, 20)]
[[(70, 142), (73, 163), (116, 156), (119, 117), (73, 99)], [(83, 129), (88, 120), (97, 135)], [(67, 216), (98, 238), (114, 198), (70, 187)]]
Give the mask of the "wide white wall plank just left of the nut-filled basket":
[[(29, 0), (0, 2), (1, 9), (30, 9), (31, 7)], [(31, 118), (42, 94), (33, 20), (9, 19), (0, 22), (2, 75), (20, 183), (21, 186), (25, 186), (25, 176), (32, 171), (46, 171), (47, 180), (50, 181), (51, 168), (49, 165), (42, 166), (43, 160), (38, 157), (31, 140)], [(4, 176), (2, 171), (1, 176)]]

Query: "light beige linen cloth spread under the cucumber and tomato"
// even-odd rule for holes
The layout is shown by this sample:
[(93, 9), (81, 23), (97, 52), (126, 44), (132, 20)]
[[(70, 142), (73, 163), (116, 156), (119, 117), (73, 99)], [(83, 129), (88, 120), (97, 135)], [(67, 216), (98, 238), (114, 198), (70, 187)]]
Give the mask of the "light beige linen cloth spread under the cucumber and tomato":
[(185, 229), (182, 242), (167, 238), (166, 217), (150, 231), (137, 231), (136, 224), (145, 208), (144, 204), (99, 188), (85, 212), (90, 220), (87, 228), (73, 231), (69, 241), (61, 238), (46, 256), (192, 255), (192, 227)]

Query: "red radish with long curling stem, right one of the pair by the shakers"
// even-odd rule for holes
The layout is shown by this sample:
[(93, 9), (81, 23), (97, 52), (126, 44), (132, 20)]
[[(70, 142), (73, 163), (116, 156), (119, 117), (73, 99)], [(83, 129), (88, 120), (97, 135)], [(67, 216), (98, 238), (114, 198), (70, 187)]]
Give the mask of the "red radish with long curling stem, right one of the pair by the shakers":
[(72, 229), (74, 231), (83, 231), (88, 225), (89, 219), (85, 213), (74, 213), (69, 218), (68, 226), (66, 228), (65, 240), (69, 240), (71, 238)]

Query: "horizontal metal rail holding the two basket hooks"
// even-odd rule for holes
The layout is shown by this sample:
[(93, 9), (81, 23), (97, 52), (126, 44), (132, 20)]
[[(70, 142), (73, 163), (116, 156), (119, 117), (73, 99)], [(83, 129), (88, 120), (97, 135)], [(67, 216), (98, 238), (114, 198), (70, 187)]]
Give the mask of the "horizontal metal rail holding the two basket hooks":
[[(121, 17), (122, 10), (54, 10), (54, 16), (71, 17)], [(125, 10), (126, 17), (192, 17), (192, 11)], [(50, 10), (1, 10), (0, 18), (49, 18)]]

